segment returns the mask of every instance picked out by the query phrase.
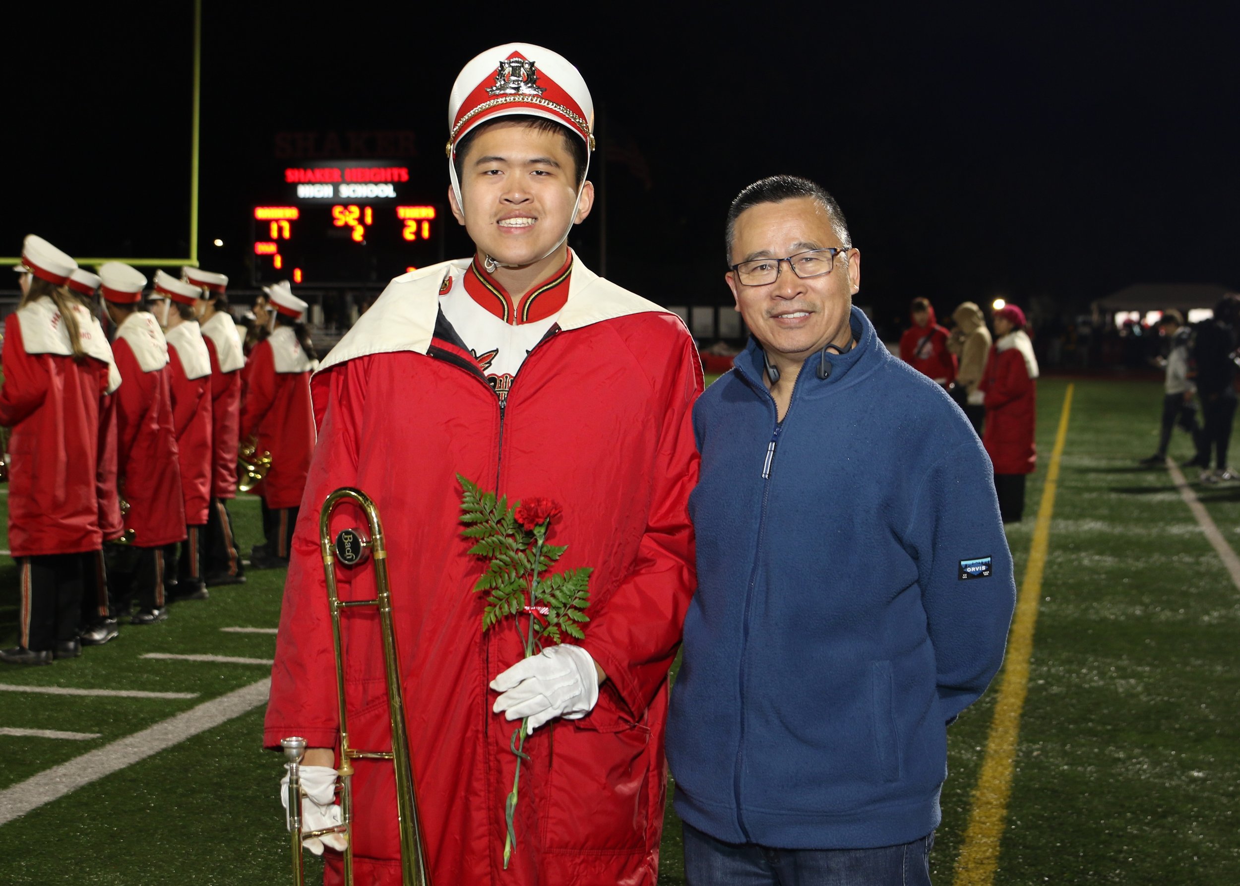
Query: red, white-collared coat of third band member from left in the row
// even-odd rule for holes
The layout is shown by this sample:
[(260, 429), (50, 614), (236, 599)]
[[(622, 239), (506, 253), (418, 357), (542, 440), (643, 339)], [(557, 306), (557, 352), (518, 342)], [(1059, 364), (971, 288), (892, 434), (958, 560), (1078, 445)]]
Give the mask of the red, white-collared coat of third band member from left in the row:
[(123, 383), (117, 391), (117, 474), (129, 503), (134, 545), (185, 541), (185, 500), (172, 426), (167, 342), (155, 318), (135, 310), (112, 342)]

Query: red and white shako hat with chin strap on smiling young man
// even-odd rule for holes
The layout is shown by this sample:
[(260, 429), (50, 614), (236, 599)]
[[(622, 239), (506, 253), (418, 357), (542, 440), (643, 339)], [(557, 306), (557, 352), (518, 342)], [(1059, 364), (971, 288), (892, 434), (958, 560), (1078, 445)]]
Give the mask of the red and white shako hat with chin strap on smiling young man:
[[(465, 201), (453, 163), (456, 145), (480, 123), (513, 114), (554, 120), (585, 141), (584, 185), (594, 150), (594, 99), (589, 87), (580, 72), (558, 52), (533, 43), (505, 43), (475, 56), (461, 68), (448, 99), (448, 175), (456, 205), (463, 211)], [(580, 186), (577, 199), (582, 199)], [(572, 227), (569, 221), (569, 230)], [(552, 252), (567, 238), (568, 231)]]

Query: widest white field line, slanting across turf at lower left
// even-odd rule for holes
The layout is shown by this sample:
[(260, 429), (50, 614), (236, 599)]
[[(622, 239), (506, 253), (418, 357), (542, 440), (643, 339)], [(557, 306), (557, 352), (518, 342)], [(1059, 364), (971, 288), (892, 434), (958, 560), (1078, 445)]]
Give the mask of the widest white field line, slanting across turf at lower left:
[(270, 686), (269, 679), (242, 686), (0, 790), (0, 825), (265, 705)]

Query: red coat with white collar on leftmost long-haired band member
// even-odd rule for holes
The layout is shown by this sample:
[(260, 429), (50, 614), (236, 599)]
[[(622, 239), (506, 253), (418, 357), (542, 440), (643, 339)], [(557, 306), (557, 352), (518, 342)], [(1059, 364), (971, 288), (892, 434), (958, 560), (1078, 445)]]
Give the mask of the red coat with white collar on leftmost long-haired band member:
[(82, 362), (60, 310), (37, 299), (5, 320), (0, 424), (9, 438), (9, 547), (15, 557), (95, 551), (103, 535), (109, 391), (120, 378), (91, 313), (74, 305)]

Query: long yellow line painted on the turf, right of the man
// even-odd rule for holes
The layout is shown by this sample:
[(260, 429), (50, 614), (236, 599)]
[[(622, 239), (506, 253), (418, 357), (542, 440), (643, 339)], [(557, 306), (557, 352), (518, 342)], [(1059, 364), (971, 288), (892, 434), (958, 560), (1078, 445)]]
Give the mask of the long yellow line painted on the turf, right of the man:
[(1007, 663), (999, 684), (994, 720), (986, 740), (982, 774), (973, 789), (972, 812), (965, 845), (956, 859), (956, 886), (991, 886), (999, 859), (999, 840), (1007, 821), (1007, 802), (1012, 793), (1012, 764), (1021, 733), (1021, 711), (1029, 690), (1029, 658), (1033, 655), (1033, 627), (1038, 622), (1038, 599), (1042, 597), (1042, 572), (1050, 547), (1050, 515), (1055, 510), (1055, 489), (1059, 485), (1059, 459), (1068, 439), (1068, 416), (1073, 406), (1073, 385), (1064, 392), (1064, 408), (1059, 416), (1055, 448), (1050, 468), (1042, 486), (1038, 522), (1033, 527), (1029, 563), (1008, 637)]

